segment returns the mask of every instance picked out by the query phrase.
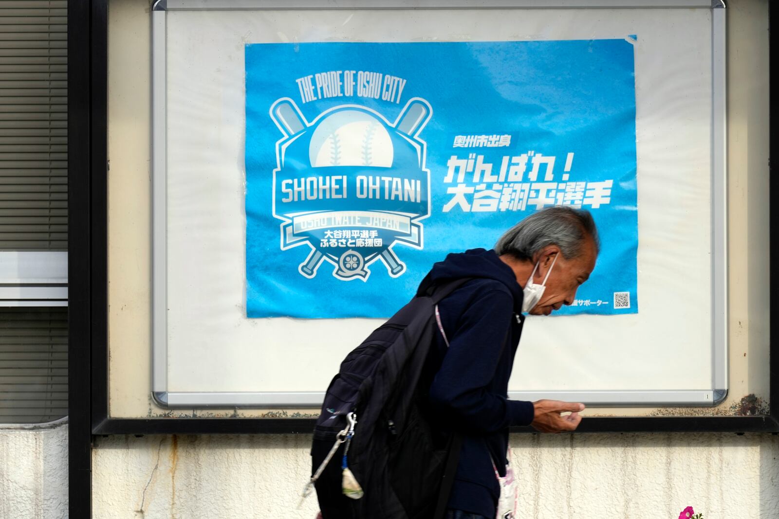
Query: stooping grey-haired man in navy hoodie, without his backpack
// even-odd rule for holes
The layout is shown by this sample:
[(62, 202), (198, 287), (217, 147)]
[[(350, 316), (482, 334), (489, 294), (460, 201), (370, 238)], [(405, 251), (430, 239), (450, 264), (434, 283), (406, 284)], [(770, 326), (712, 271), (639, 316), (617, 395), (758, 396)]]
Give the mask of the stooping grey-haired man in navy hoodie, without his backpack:
[(556, 433), (579, 425), (583, 404), (509, 400), (507, 390), (523, 313), (549, 315), (573, 303), (598, 247), (589, 212), (552, 207), (513, 226), (492, 251), (449, 254), (421, 282), (418, 294), (472, 278), (439, 303), (442, 333), (426, 365), (436, 421), (464, 436), (447, 519), (495, 517), (495, 468), (506, 474), (509, 426)]

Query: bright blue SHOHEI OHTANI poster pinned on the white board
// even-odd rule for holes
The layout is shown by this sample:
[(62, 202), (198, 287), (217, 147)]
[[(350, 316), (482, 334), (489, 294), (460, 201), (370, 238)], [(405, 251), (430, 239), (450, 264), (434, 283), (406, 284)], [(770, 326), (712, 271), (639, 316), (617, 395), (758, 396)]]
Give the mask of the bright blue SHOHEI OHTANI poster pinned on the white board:
[(246, 45), (247, 316), (389, 317), (550, 205), (601, 237), (555, 314), (636, 313), (632, 41)]

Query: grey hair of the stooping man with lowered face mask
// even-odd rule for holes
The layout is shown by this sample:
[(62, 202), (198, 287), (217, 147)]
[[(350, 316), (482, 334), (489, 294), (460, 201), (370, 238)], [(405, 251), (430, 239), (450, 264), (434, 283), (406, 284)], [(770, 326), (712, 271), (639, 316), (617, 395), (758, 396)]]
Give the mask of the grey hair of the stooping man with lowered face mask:
[(582, 254), (587, 237), (592, 238), (597, 254), (601, 244), (590, 212), (555, 205), (534, 212), (503, 233), (495, 244), (495, 252), (510, 254), (520, 260), (532, 260), (542, 248), (557, 245), (564, 258), (577, 258)]

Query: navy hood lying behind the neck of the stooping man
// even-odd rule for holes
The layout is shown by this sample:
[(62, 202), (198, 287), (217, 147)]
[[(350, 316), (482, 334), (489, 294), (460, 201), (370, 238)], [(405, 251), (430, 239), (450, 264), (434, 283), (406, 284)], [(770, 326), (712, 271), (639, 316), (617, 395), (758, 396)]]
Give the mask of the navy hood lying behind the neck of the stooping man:
[(522, 314), (522, 287), (516, 282), (514, 271), (498, 258), (495, 251), (485, 249), (470, 249), (465, 252), (452, 253), (444, 261), (438, 261), (430, 269), (428, 275), (419, 284), (417, 296), (433, 285), (450, 279), (494, 279), (502, 282), (514, 298), (514, 311)]

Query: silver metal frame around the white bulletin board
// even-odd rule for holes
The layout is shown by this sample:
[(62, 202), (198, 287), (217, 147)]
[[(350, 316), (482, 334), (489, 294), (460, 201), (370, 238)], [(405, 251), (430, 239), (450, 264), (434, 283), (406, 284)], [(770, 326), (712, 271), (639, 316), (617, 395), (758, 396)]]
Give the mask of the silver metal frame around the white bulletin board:
[[(371, 9), (405, 9), (411, 2), (403, 0), (373, 2)], [(360, 2), (342, 2), (333, 9), (361, 8)], [(425, 9), (457, 9), (467, 2), (428, 2)], [(711, 100), (711, 359), (712, 389), (706, 391), (624, 391), (609, 395), (609, 391), (544, 393), (548, 398), (582, 400), (590, 405), (648, 405), (668, 402), (673, 405), (717, 405), (727, 395), (728, 387), (728, 309), (727, 309), (727, 175), (726, 175), (726, 112), (725, 112), (725, 12), (723, 2), (709, 0), (678, 0), (645, 2), (622, 0), (587, 2), (586, 0), (541, 2), (520, 0), (496, 1), (480, 5), (486, 9), (555, 9), (555, 8), (695, 8), (712, 12), (712, 100)], [(322, 393), (287, 392), (187, 392), (171, 391), (167, 387), (168, 362), (168, 286), (167, 286), (167, 16), (175, 11), (209, 11), (241, 9), (321, 9), (320, 2), (273, 2), (270, 0), (158, 0), (152, 11), (152, 170), (153, 170), (153, 387), (152, 394), (163, 407), (224, 408), (224, 407), (318, 407)], [(535, 393), (512, 393), (513, 398), (541, 398)]]

